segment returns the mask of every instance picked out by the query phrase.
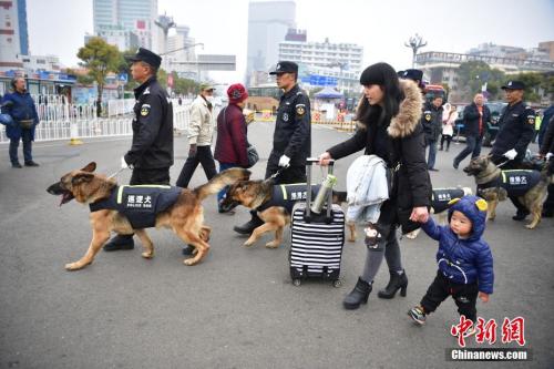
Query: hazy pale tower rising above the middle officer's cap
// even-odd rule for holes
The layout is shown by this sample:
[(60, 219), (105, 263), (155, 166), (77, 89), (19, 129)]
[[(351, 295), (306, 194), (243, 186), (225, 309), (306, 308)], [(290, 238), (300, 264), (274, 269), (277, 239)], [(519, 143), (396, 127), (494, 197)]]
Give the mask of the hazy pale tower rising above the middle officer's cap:
[(253, 72), (267, 72), (277, 64), (279, 42), (296, 28), (294, 1), (265, 1), (248, 4), (247, 83)]

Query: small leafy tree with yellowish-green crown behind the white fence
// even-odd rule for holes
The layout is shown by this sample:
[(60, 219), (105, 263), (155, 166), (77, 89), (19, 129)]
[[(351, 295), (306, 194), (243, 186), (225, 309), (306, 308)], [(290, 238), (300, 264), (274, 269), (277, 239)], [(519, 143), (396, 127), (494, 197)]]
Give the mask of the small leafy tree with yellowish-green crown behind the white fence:
[(96, 116), (100, 116), (105, 78), (110, 72), (117, 72), (121, 54), (116, 47), (106, 43), (103, 39), (91, 38), (83, 48), (79, 49), (76, 57), (83, 61), (80, 65), (89, 70), (91, 80), (96, 82)]

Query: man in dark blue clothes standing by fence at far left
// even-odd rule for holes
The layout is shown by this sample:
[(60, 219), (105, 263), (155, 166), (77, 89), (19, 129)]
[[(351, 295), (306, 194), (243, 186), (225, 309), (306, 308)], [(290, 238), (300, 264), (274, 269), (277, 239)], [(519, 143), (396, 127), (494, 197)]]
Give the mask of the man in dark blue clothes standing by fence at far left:
[(9, 114), (14, 124), (6, 126), (6, 135), (10, 139), (10, 162), (14, 168), (21, 168), (18, 158), (19, 141), (23, 142), (23, 160), (25, 166), (39, 166), (33, 161), (32, 142), (34, 141), (34, 131), (39, 124), (39, 114), (37, 106), (27, 92), (25, 80), (22, 76), (16, 76), (11, 80), (12, 93), (7, 93), (2, 99), (3, 114)]

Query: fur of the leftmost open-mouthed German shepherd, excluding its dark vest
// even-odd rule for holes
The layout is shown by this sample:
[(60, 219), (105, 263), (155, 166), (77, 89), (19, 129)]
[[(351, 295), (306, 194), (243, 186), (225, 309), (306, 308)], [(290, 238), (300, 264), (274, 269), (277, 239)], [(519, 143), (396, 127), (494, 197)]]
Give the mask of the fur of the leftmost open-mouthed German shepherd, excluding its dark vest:
[[(63, 175), (60, 182), (48, 187), (52, 195), (61, 195), (60, 206), (75, 198), (82, 204), (92, 204), (110, 197), (116, 187), (113, 178), (93, 173), (96, 163), (89, 163), (79, 171)], [(191, 191), (183, 188), (177, 201), (166, 211), (156, 215), (155, 227), (171, 228), (184, 243), (195, 247), (195, 255), (184, 260), (185, 265), (195, 265), (208, 253), (211, 228), (204, 225), (204, 209), (202, 201), (208, 195), (216, 194), (225, 186), (239, 180), (248, 178), (250, 172), (243, 168), (230, 168), (217, 174), (208, 183)], [(101, 209), (90, 215), (92, 240), (86, 254), (75, 263), (65, 265), (68, 270), (78, 270), (91, 264), (94, 256), (110, 238), (110, 232), (121, 235), (136, 233), (143, 245), (142, 256), (154, 257), (154, 245), (144, 229), (133, 229), (127, 218), (117, 211)]]

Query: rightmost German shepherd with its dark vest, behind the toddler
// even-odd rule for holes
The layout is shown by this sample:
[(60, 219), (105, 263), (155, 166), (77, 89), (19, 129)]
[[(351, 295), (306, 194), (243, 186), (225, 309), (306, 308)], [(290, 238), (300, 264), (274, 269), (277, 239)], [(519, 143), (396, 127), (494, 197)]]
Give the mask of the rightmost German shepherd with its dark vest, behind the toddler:
[(547, 186), (554, 183), (554, 175), (548, 175), (547, 165), (538, 171), (511, 170), (502, 171), (490, 156), (478, 156), (463, 168), (468, 175), (475, 177), (478, 195), (486, 199), (489, 211), (486, 221), (494, 221), (499, 202), (509, 196), (516, 196), (519, 202), (532, 215), (527, 229), (534, 229), (541, 223), (543, 202)]

